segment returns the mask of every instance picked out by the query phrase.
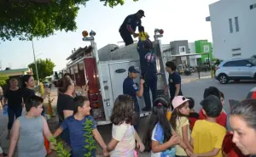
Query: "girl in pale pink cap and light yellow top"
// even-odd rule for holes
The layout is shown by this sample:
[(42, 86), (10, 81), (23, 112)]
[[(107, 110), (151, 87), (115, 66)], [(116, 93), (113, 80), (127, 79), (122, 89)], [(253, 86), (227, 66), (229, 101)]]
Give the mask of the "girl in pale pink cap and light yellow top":
[[(171, 117), (172, 129), (182, 137), (183, 143), (186, 145), (186, 149), (193, 152), (193, 148), (190, 145), (190, 129), (189, 129), (189, 99), (183, 96), (177, 96), (172, 100), (173, 112)], [(176, 146), (176, 156), (187, 156), (186, 149)]]

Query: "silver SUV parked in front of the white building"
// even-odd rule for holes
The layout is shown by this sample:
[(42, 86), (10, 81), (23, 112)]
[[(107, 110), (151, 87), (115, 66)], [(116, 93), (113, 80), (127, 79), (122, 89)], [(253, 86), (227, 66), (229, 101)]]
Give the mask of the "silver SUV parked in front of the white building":
[(221, 84), (226, 84), (230, 80), (256, 80), (256, 59), (224, 60), (216, 68), (215, 78)]

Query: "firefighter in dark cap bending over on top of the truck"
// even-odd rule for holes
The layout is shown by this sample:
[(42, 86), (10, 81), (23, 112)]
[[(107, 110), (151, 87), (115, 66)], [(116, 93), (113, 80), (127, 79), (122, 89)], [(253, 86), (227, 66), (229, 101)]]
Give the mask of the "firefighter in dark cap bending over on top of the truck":
[(142, 18), (145, 17), (144, 11), (139, 10), (136, 14), (130, 14), (128, 15), (123, 24), (119, 28), (120, 36), (123, 38), (125, 42), (125, 46), (131, 45), (133, 43), (133, 37), (139, 36), (138, 33), (136, 33), (137, 26), (142, 25)]

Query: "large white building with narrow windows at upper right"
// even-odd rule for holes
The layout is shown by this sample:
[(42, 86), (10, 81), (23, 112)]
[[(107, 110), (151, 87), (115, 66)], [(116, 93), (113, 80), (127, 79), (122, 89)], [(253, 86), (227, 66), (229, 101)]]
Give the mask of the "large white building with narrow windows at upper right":
[(247, 58), (256, 53), (256, 0), (219, 0), (209, 9), (214, 57)]

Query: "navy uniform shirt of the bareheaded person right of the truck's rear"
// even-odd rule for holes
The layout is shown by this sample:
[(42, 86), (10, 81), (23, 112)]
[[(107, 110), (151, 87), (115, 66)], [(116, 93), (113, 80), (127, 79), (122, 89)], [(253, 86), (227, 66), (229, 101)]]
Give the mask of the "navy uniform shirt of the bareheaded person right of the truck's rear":
[(183, 95), (183, 93), (181, 91), (181, 77), (179, 76), (179, 74), (177, 74), (177, 72), (174, 72), (173, 74), (169, 74), (168, 81), (169, 81), (171, 98), (174, 98), (174, 96), (175, 96), (175, 92), (176, 92), (175, 85), (177, 85), (177, 84), (180, 85), (180, 90), (179, 90), (178, 95)]

